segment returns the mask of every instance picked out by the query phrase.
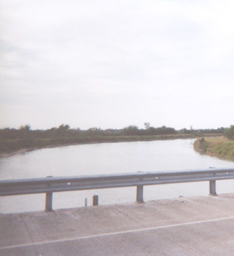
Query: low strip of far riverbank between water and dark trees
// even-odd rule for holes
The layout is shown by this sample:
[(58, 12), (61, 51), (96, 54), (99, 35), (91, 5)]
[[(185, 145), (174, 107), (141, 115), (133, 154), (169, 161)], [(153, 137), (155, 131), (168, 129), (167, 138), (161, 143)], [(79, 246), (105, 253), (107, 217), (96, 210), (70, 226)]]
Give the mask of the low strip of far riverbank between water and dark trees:
[[(199, 135), (201, 136), (201, 134)], [(115, 136), (115, 137), (98, 137), (93, 138), (90, 142), (75, 142), (75, 143), (56, 143), (56, 144), (47, 144), (44, 146), (35, 146), (35, 147), (22, 147), (21, 149), (11, 150), (11, 151), (2, 151), (0, 157), (9, 157), (14, 154), (24, 154), (28, 151), (36, 149), (46, 149), (53, 147), (62, 147), (62, 146), (72, 146), (79, 144), (97, 144), (97, 143), (116, 143), (116, 142), (147, 142), (153, 140), (174, 140), (174, 139), (195, 139), (196, 134), (165, 134), (165, 135), (153, 135), (153, 136)], [(206, 137), (216, 137), (221, 136), (221, 134), (205, 134)]]

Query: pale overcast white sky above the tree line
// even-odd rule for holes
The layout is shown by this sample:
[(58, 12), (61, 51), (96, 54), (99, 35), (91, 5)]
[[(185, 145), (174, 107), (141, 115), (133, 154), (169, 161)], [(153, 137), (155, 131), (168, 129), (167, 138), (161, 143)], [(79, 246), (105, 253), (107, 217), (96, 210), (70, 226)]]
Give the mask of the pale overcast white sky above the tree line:
[(233, 120), (234, 2), (0, 0), (0, 128)]

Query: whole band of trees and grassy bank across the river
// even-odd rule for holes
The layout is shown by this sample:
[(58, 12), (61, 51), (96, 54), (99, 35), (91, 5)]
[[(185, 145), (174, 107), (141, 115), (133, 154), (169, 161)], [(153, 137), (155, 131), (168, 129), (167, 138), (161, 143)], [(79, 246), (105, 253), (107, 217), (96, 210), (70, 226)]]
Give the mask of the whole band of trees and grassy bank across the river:
[(68, 124), (61, 124), (47, 130), (31, 130), (29, 124), (19, 129), (0, 129), (0, 153), (11, 153), (18, 150), (30, 150), (40, 147), (53, 147), (66, 144), (100, 143), (100, 142), (135, 142), (147, 140), (167, 140), (197, 137), (200, 134), (222, 134), (224, 128), (206, 130), (175, 130), (162, 126), (152, 127), (144, 123), (145, 129), (128, 126), (123, 129), (101, 130), (92, 127), (88, 130), (70, 129)]

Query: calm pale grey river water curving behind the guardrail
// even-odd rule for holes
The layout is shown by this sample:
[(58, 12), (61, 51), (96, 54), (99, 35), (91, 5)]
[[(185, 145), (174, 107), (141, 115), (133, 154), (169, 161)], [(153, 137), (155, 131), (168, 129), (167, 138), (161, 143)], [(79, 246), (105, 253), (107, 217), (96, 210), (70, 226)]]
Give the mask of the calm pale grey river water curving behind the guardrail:
[[(46, 176), (132, 173), (136, 171), (194, 170), (234, 167), (231, 161), (201, 155), (193, 149), (194, 139), (84, 144), (48, 149), (0, 158), (0, 180)], [(232, 193), (234, 181), (218, 181), (217, 193)], [(209, 193), (208, 182), (144, 186), (144, 200), (198, 196)], [(136, 187), (74, 191), (53, 194), (53, 208), (92, 204), (129, 203), (136, 200)], [(44, 194), (0, 198), (0, 213), (44, 209)]]

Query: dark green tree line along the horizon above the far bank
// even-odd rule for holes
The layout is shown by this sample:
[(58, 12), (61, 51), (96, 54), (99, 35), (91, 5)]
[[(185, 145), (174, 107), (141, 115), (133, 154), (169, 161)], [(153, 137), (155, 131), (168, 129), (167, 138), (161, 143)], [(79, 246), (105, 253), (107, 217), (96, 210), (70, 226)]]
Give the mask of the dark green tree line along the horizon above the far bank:
[(135, 125), (124, 127), (123, 129), (105, 129), (91, 127), (87, 130), (80, 128), (71, 129), (68, 124), (61, 124), (59, 127), (53, 127), (46, 130), (32, 130), (29, 124), (20, 126), (19, 129), (5, 128), (0, 129), (0, 139), (47, 139), (61, 137), (105, 137), (105, 136), (150, 136), (150, 135), (166, 135), (166, 134), (208, 134), (223, 133), (225, 128), (218, 129), (181, 129), (176, 130), (171, 127), (153, 127), (149, 123), (144, 123), (145, 128), (139, 129)]

